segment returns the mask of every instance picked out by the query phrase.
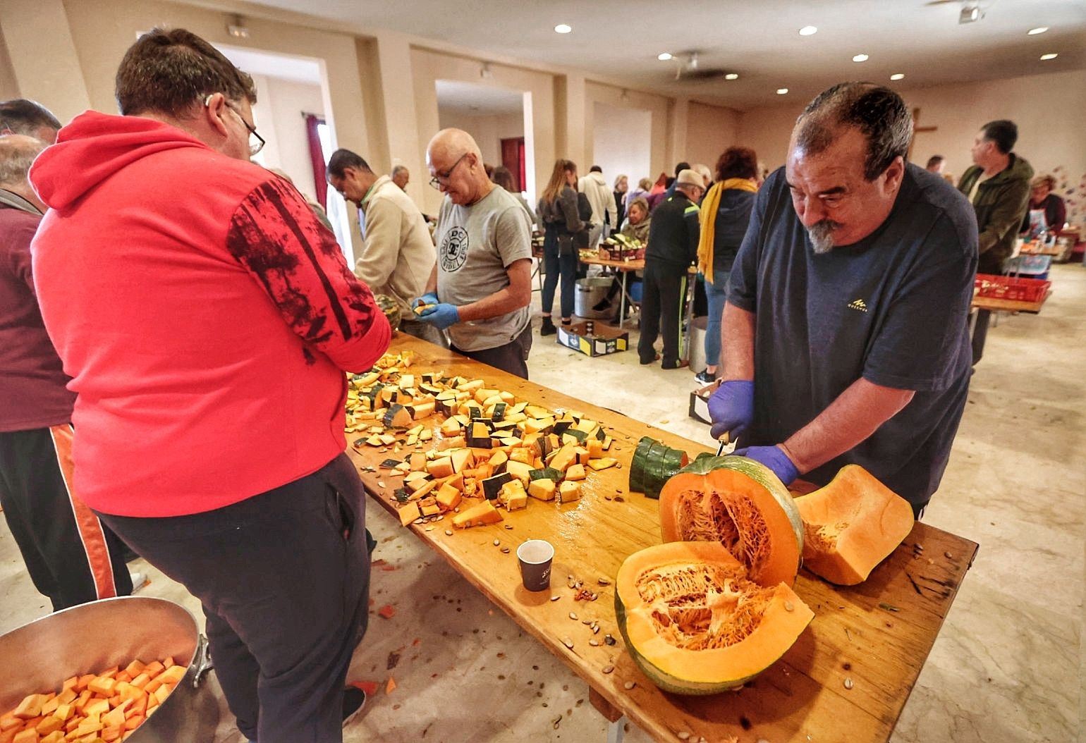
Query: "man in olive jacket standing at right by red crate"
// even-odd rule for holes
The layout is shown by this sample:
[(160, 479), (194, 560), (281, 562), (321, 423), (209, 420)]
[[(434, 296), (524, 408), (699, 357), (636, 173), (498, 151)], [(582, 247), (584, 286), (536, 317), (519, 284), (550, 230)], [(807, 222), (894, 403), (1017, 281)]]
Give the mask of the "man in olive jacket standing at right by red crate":
[[(1002, 274), (1003, 264), (1014, 252), (1022, 217), (1030, 206), (1030, 180), (1033, 167), (1014, 154), (1018, 126), (1014, 122), (988, 122), (976, 134), (970, 151), (975, 165), (958, 181), (976, 211), (981, 260), (978, 274)], [(973, 365), (981, 361), (992, 313), (978, 310), (973, 329)]]

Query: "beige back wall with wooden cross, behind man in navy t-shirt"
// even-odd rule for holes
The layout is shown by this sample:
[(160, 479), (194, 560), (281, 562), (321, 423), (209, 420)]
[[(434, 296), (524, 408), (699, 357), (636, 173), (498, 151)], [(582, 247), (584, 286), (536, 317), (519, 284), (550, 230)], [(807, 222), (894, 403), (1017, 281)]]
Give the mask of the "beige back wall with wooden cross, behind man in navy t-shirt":
[[(1086, 71), (1031, 75), (1003, 80), (902, 90), (910, 108), (920, 109), (920, 126), (938, 127), (917, 135), (912, 160), (933, 154), (960, 176), (971, 164), (969, 148), (985, 123), (1010, 118), (1019, 125), (1015, 151), (1038, 172), (1062, 165), (1076, 184), (1086, 173)], [(788, 134), (806, 101), (755, 109), (740, 117), (737, 142), (755, 148), (770, 168), (784, 164)]]

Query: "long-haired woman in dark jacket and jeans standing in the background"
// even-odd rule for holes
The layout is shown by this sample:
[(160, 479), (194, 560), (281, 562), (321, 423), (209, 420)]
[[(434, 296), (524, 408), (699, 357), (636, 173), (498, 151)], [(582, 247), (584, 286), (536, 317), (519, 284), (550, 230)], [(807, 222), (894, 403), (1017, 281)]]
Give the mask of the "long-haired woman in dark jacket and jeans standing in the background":
[(554, 290), (561, 278), (561, 324), (569, 326), (573, 316), (573, 292), (577, 282), (576, 237), (584, 230), (577, 207), (577, 165), (569, 160), (556, 160), (551, 180), (543, 189), (539, 215), (543, 223), (543, 325), (541, 336), (558, 330), (551, 320)]

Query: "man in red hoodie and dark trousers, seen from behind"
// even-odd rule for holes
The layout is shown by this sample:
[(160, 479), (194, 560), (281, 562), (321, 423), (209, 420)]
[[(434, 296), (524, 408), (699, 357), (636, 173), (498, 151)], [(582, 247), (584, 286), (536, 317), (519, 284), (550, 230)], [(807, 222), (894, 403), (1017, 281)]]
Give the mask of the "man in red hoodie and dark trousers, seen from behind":
[(252, 78), (184, 29), (64, 127), (30, 179), (41, 314), (77, 393), (75, 480), (203, 604), (238, 727), (341, 740), (369, 546), (343, 372), (391, 330), (298, 191), (249, 162)]

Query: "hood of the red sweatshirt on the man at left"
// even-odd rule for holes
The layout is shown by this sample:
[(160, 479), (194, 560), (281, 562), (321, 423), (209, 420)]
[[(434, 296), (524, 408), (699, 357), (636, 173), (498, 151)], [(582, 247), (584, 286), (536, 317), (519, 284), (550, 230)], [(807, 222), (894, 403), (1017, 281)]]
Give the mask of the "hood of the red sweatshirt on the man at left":
[(176, 126), (142, 116), (87, 111), (60, 130), (30, 167), (30, 184), (46, 204), (63, 211), (140, 158), (163, 150), (211, 148)]

